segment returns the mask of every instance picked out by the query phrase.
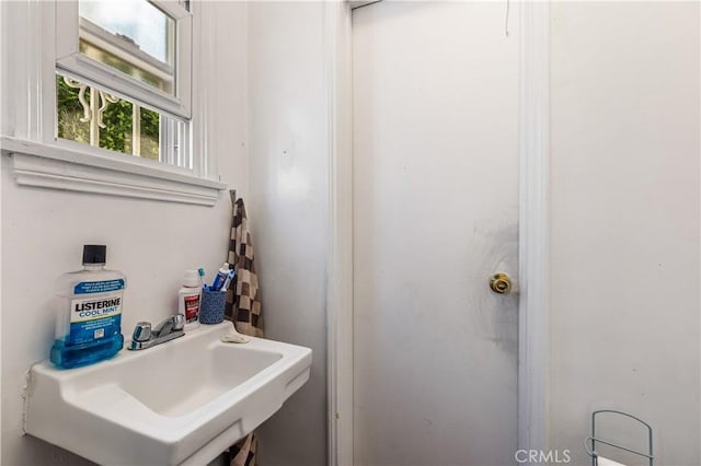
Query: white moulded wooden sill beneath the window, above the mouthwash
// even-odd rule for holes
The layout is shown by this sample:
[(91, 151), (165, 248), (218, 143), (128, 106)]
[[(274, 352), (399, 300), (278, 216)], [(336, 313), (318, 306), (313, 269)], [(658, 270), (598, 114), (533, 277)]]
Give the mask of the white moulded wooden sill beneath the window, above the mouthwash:
[(14, 179), (35, 186), (79, 193), (214, 206), (223, 183), (198, 178), (176, 167), (156, 167), (143, 160), (104, 156), (60, 145), (0, 139), (12, 158)]

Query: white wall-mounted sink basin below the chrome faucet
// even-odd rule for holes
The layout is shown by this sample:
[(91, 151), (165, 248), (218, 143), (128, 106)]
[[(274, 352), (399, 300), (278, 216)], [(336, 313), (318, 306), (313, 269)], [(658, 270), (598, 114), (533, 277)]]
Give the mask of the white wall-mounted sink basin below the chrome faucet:
[(100, 464), (203, 465), (277, 411), (308, 380), (311, 350), (232, 324), (80, 369), (30, 370), (25, 431)]

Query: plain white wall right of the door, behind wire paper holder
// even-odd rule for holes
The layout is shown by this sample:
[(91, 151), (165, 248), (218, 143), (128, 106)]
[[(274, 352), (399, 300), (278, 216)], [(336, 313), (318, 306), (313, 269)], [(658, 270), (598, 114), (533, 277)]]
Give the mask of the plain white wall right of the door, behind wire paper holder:
[(617, 408), (655, 464), (698, 465), (699, 4), (551, 12), (551, 446), (588, 464), (589, 412)]

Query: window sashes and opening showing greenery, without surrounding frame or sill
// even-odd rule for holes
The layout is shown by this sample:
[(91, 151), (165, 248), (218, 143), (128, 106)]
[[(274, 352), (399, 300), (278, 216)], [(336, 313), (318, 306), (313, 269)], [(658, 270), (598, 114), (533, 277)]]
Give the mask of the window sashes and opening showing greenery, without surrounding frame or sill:
[(193, 167), (187, 3), (57, 2), (56, 133)]

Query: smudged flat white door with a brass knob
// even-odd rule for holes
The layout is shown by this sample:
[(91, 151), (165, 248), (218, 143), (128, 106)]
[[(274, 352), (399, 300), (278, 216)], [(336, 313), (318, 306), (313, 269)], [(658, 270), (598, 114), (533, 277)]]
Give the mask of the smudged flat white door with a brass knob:
[(513, 465), (518, 4), (353, 14), (354, 459)]

